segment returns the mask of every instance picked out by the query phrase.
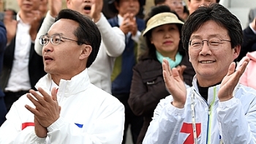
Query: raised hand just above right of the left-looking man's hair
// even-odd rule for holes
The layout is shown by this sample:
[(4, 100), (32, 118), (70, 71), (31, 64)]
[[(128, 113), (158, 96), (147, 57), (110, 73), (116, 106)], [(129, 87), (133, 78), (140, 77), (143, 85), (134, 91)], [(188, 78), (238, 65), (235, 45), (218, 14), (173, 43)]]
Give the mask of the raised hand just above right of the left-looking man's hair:
[(103, 7), (103, 0), (94, 0), (94, 3), (91, 5), (91, 13), (89, 17), (94, 20), (94, 23), (97, 23), (101, 17)]

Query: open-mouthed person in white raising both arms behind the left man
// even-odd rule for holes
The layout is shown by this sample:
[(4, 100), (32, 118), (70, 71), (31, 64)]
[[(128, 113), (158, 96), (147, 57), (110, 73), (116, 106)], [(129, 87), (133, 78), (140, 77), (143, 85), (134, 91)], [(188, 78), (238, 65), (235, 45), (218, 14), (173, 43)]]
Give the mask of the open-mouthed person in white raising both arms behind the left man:
[[(56, 15), (61, 10), (62, 0), (49, 0), (49, 11), (37, 34), (34, 48), (39, 55), (42, 55), (42, 45), (39, 45), (39, 37), (47, 33), (54, 23)], [(88, 69), (88, 74), (95, 86), (102, 88), (111, 94), (110, 76), (113, 71), (115, 58), (120, 56), (125, 48), (124, 33), (118, 27), (111, 27), (108, 20), (102, 14), (103, 0), (67, 0), (67, 8), (88, 15), (97, 25), (101, 35), (102, 43), (94, 63)]]

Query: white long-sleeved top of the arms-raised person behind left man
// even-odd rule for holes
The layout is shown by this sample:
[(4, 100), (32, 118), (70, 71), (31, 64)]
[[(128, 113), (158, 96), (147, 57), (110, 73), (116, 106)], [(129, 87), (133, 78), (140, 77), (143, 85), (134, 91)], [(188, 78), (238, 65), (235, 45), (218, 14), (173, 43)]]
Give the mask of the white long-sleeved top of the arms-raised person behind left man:
[[(39, 56), (42, 56), (42, 45), (39, 44), (39, 37), (48, 32), (54, 21), (55, 18), (53, 18), (50, 15), (50, 11), (48, 11), (34, 42), (34, 50)], [(111, 94), (110, 77), (116, 57), (121, 56), (124, 51), (125, 35), (118, 27), (110, 26), (110, 23), (108, 23), (108, 20), (102, 13), (99, 21), (95, 24), (102, 36), (102, 42), (95, 61), (88, 68), (88, 75), (91, 83)]]

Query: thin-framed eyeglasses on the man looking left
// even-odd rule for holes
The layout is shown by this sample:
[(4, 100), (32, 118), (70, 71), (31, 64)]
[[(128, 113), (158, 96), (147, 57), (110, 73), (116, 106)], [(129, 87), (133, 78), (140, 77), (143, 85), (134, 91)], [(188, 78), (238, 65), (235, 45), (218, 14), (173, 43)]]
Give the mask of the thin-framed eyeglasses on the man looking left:
[(62, 37), (61, 34), (53, 34), (52, 36), (48, 36), (48, 35), (42, 35), (41, 37), (39, 37), (39, 43), (40, 45), (47, 45), (48, 42), (50, 41), (53, 45), (59, 45), (60, 42), (63, 42), (63, 40), (61, 39), (67, 39), (73, 42), (78, 42), (78, 45), (83, 45), (85, 44), (84, 42), (79, 42), (77, 40), (74, 39), (69, 39), (67, 37)]

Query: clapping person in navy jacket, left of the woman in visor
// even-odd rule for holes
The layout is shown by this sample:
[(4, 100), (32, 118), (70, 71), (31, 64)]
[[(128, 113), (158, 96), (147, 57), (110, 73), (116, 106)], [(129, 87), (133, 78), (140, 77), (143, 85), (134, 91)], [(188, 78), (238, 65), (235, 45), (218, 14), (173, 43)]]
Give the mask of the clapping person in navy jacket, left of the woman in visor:
[(145, 21), (138, 18), (140, 10), (139, 0), (115, 0), (113, 2), (118, 12), (114, 18), (108, 19), (112, 27), (117, 26), (125, 34), (125, 48), (121, 56), (115, 59), (111, 75), (111, 92), (125, 108), (124, 137), (122, 144), (127, 138), (127, 129), (130, 126), (132, 142), (136, 143), (140, 129), (143, 125), (143, 117), (132, 113), (128, 105), (129, 91), (132, 83), (132, 67), (136, 64), (137, 45), (141, 31), (145, 29)]

